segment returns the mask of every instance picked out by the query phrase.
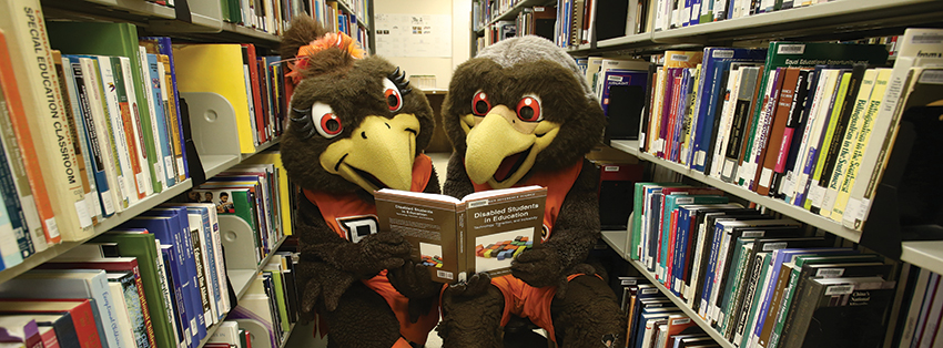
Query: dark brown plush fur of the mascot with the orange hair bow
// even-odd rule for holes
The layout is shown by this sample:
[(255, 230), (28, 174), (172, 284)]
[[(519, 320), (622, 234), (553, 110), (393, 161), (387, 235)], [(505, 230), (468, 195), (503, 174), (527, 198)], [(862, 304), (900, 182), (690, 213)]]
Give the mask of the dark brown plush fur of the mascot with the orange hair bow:
[[(301, 45), (323, 34), (324, 31), (310, 18), (294, 20), (282, 40), (283, 58), (294, 57)], [(294, 184), (316, 192), (355, 194), (373, 204), (371, 192), (341, 175), (327, 172), (320, 161), (321, 155), (335, 142), (352, 137), (367, 139), (364, 132), (354, 133), (367, 117), (393, 120), (402, 114), (415, 115), (419, 127), (415, 130), (414, 155), (422, 153), (435, 129), (432, 108), (423, 92), (414, 89), (402, 95), (399, 111), (389, 110), (384, 95), (384, 81), (396, 71), (396, 66), (382, 58), (355, 60), (348, 52), (336, 48), (310, 57), (310, 64), (302, 71), (304, 79), (294, 89), (291, 101), (291, 117), (294, 120), (281, 146), (282, 161)], [(343, 127), (339, 134), (328, 137), (312, 132), (311, 126), (314, 124), (305, 121), (305, 117), (312, 117), (314, 103), (331, 108)], [(314, 119), (313, 122), (317, 121)], [(379, 160), (376, 162), (382, 163)], [(425, 192), (439, 192), (434, 171)], [(409, 298), (410, 313), (414, 311), (412, 307), (417, 308), (416, 314), (429, 311), (430, 304), (438, 296), (438, 291), (429, 289), (438, 289), (442, 285), (432, 283), (427, 273), (420, 274), (413, 268), (405, 272), (399, 269), (415, 267), (404, 262), (408, 259), (412, 247), (400, 235), (378, 232), (358, 243), (352, 243), (338, 236), (324, 221), (317, 205), (304, 195), (297, 197), (296, 212), (295, 231), (301, 252), (297, 284), (302, 286), (302, 315), (311, 320), (316, 309), (326, 319), (331, 329), (328, 347), (386, 348), (399, 339), (399, 324), (393, 310), (378, 294), (361, 283), (384, 269), (392, 270), (391, 276), (395, 282), (391, 283)]]

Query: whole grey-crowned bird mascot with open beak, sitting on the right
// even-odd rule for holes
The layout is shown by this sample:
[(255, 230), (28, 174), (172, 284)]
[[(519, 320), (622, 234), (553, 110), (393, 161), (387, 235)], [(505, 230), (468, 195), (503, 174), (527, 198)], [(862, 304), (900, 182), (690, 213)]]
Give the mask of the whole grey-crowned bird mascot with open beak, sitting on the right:
[(478, 274), (445, 290), (445, 346), (499, 347), (511, 314), (562, 347), (625, 341), (612, 290), (582, 264), (600, 234), (598, 174), (584, 156), (605, 117), (572, 58), (537, 37), (488, 47), (456, 69), (443, 119), (455, 147), (446, 194), (548, 188), (544, 243), (515, 258), (513, 276)]

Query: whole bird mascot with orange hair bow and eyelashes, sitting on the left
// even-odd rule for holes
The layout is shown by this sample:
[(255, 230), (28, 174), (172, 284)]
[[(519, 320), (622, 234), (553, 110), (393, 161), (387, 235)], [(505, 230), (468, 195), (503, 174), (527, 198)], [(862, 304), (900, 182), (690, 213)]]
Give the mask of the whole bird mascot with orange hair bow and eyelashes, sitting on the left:
[[(373, 192), (438, 193), (422, 154), (435, 127), (425, 95), (398, 68), (349, 37), (296, 19), (282, 40), (296, 83), (282, 141), (288, 177), (302, 188), (295, 231), (302, 311), (316, 309), (329, 347), (424, 344), (438, 319), (442, 285), (408, 259), (400, 235), (377, 229)], [(388, 273), (387, 273), (388, 269)]]

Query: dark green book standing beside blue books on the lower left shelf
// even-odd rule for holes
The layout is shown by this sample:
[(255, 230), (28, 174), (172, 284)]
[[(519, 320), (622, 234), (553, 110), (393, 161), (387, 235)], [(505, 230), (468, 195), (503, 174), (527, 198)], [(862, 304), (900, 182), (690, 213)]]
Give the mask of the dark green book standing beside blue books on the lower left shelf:
[(176, 348), (176, 338), (171, 324), (173, 320), (173, 315), (170, 313), (171, 306), (164, 303), (159, 280), (160, 273), (155, 259), (161, 257), (161, 254), (156, 249), (154, 235), (113, 229), (95, 237), (92, 242), (118, 243), (121, 256), (138, 258), (138, 270), (141, 273), (144, 298), (148, 300), (144, 325), (149, 330), (153, 329), (152, 335), (158, 347)]

